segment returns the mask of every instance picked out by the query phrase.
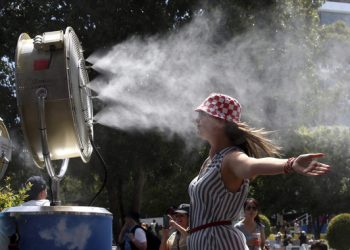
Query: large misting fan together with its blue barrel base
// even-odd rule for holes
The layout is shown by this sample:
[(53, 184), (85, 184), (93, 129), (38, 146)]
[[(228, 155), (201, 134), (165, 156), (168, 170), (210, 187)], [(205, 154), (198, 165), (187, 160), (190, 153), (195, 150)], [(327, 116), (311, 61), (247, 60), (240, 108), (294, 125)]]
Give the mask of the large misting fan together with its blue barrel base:
[[(69, 159), (81, 157), (88, 162), (96, 149), (88, 81), (82, 47), (71, 27), (65, 32), (45, 32), (34, 39), (26, 33), (20, 35), (16, 89), (22, 129), (35, 165), (46, 168), (50, 176), (53, 206), (4, 210), (9, 225), (16, 229), (11, 233), (18, 236), (10, 237), (15, 239), (10, 244), (18, 249), (112, 248), (113, 216), (109, 211), (62, 206), (59, 199), (59, 184)], [(5, 249), (7, 242), (3, 245)]]

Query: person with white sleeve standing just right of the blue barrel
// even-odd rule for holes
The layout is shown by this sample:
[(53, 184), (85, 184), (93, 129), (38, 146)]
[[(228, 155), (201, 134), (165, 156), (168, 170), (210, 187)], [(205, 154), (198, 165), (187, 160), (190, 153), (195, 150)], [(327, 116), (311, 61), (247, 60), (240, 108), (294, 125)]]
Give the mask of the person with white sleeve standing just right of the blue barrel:
[(125, 216), (125, 223), (119, 233), (119, 245), (124, 250), (146, 250), (146, 233), (140, 226), (140, 216), (138, 213), (130, 211)]

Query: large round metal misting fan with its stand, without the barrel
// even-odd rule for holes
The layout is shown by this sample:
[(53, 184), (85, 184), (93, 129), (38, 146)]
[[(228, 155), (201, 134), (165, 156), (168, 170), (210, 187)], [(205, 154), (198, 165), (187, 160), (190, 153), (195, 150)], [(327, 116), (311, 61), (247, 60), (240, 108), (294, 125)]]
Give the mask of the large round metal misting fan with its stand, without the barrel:
[[(46, 167), (54, 205), (73, 157), (93, 151), (93, 108), (83, 50), (71, 27), (33, 39), (22, 33), (16, 50), (16, 89), (22, 129), (36, 166)], [(62, 160), (55, 171), (53, 160)], [(57, 169), (58, 170), (58, 169)]]

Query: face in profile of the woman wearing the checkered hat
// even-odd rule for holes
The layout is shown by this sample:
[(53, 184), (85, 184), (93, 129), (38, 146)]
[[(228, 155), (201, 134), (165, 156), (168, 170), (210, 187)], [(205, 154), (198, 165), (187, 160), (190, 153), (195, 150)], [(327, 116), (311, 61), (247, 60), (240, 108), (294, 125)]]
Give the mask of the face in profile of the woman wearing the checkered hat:
[(206, 140), (215, 136), (218, 132), (224, 129), (225, 122), (219, 118), (215, 118), (203, 111), (198, 112), (196, 119), (198, 135)]

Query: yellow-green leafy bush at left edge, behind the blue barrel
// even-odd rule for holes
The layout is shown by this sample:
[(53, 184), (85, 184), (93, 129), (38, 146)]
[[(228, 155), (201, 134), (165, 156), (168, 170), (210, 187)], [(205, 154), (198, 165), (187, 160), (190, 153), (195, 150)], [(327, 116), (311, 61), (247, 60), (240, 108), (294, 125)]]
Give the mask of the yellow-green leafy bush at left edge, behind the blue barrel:
[(8, 207), (18, 206), (28, 197), (26, 193), (30, 189), (31, 184), (16, 192), (12, 189), (10, 181), (10, 177), (7, 177), (5, 179), (5, 186), (0, 188), (0, 211)]

